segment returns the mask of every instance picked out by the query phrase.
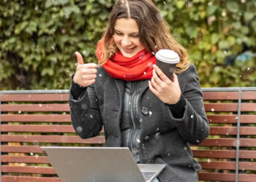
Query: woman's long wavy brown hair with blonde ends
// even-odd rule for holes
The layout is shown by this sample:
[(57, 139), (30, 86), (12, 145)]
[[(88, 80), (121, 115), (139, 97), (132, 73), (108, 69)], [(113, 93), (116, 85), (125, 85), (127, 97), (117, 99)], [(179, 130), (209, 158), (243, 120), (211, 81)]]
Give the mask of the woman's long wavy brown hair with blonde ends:
[(118, 18), (132, 18), (136, 21), (139, 27), (140, 44), (148, 52), (155, 53), (158, 50), (168, 49), (178, 53), (180, 63), (176, 66), (176, 74), (189, 67), (187, 51), (173, 38), (169, 26), (151, 0), (116, 1), (110, 13), (108, 28), (103, 35), (105, 49), (102, 63), (118, 52), (113, 42), (114, 26)]

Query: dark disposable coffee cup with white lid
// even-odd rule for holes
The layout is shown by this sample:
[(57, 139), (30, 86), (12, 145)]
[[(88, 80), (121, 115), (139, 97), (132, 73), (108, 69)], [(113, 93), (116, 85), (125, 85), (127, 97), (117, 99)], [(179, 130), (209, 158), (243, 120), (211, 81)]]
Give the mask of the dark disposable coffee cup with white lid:
[(172, 50), (159, 50), (155, 56), (157, 58), (157, 66), (173, 81), (176, 64), (180, 61), (178, 54)]

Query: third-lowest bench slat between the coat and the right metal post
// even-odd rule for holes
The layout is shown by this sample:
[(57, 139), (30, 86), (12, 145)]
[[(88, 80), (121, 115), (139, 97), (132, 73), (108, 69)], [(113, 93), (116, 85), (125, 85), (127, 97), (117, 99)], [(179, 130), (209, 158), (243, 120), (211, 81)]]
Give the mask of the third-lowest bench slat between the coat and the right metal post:
[(193, 150), (195, 158), (236, 159), (235, 150)]

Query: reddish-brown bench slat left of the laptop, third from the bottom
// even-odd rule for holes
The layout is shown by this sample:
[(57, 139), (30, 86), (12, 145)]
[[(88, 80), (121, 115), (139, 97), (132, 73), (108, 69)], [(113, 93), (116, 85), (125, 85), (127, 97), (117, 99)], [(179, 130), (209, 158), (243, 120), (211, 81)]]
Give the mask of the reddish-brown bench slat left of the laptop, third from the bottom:
[(1, 155), (1, 162), (49, 164), (47, 157)]

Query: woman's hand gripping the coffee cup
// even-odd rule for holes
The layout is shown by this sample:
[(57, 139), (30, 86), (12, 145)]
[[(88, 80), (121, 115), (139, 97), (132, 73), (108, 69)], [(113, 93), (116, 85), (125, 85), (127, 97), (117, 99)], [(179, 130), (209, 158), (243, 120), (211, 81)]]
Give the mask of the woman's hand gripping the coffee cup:
[(148, 87), (154, 95), (164, 103), (175, 104), (181, 98), (181, 88), (178, 84), (178, 76), (173, 74), (173, 82), (165, 76), (162, 70), (153, 65), (153, 76), (151, 82), (148, 81)]

